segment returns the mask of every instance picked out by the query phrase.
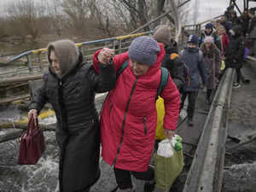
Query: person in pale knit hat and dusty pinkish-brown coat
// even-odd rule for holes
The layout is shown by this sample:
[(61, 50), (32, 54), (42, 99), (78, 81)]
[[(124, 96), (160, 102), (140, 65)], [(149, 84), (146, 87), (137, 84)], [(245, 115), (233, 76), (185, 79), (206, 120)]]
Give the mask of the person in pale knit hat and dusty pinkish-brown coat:
[(218, 75), (220, 74), (221, 58), (219, 49), (213, 43), (212, 37), (207, 37), (201, 45), (207, 69), (207, 104), (211, 104), (212, 90), (215, 90)]

